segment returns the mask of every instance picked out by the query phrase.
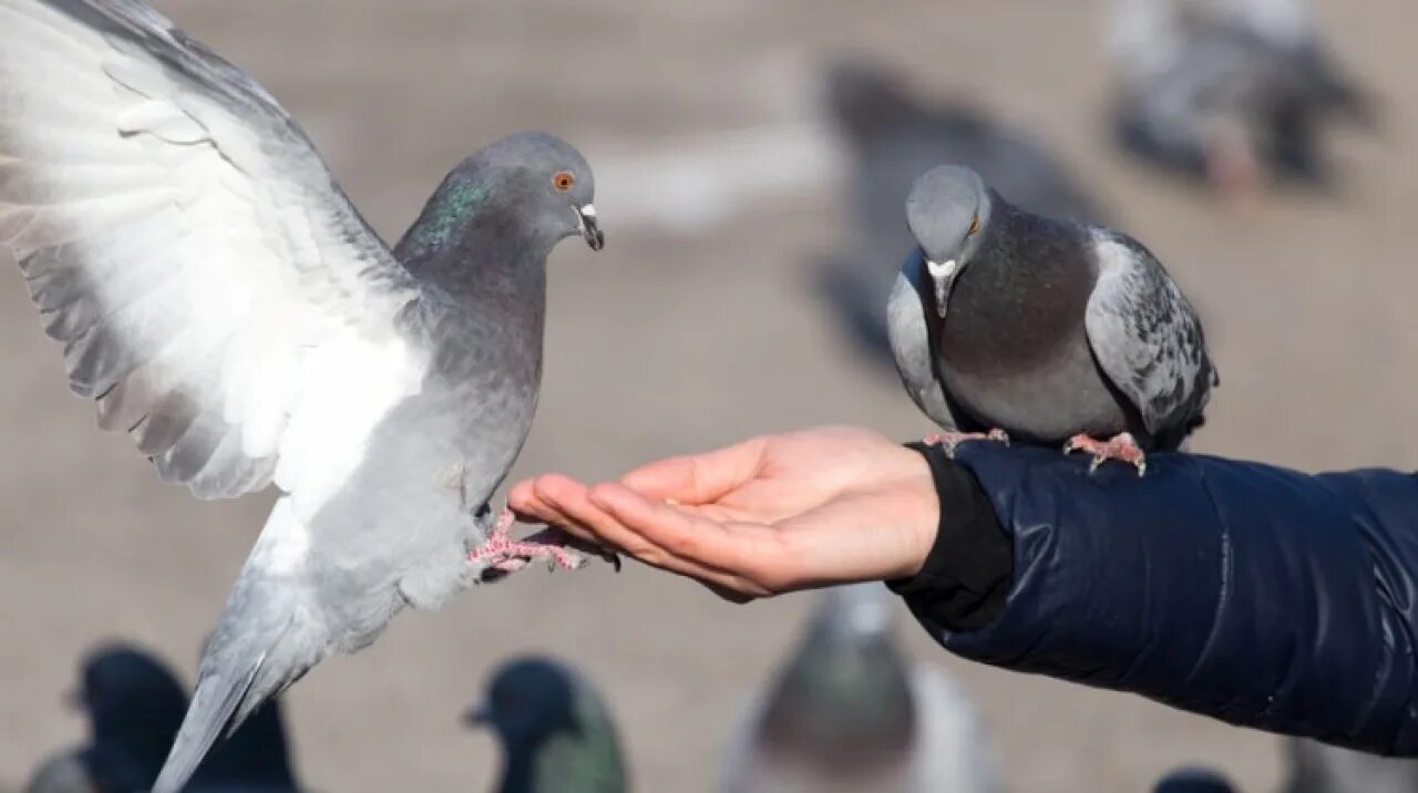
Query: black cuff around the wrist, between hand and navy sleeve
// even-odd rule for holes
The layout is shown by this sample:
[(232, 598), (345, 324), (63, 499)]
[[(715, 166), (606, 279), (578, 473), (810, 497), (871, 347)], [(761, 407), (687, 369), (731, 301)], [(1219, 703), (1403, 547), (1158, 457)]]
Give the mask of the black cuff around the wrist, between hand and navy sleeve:
[(1014, 538), (974, 474), (940, 445), (906, 444), (926, 458), (940, 497), (940, 526), (920, 572), (886, 582), (917, 617), (954, 631), (988, 624), (1014, 580)]

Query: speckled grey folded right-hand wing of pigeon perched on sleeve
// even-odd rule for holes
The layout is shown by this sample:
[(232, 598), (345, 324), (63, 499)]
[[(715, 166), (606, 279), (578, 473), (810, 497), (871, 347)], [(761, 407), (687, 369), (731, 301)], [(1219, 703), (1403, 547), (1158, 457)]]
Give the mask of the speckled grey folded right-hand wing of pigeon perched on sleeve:
[(1195, 427), (1219, 380), (1197, 312), (1137, 241), (1093, 230), (1098, 284), (1085, 328), (1099, 366), (1147, 431), (1176, 445)]

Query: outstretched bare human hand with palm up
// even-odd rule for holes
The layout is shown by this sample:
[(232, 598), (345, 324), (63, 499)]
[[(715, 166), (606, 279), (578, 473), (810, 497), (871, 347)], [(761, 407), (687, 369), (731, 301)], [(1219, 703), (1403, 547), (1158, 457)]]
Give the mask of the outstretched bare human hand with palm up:
[(736, 601), (915, 575), (936, 536), (926, 461), (854, 427), (763, 436), (584, 485), (518, 482), (518, 514)]

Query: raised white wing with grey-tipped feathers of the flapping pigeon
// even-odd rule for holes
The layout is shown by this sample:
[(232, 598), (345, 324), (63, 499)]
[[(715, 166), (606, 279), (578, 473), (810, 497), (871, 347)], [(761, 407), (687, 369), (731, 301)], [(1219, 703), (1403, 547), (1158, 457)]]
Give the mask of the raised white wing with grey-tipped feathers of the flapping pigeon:
[(275, 99), (140, 3), (0, 0), (0, 245), (99, 424), (200, 497), (337, 487), (417, 387), (407, 272)]

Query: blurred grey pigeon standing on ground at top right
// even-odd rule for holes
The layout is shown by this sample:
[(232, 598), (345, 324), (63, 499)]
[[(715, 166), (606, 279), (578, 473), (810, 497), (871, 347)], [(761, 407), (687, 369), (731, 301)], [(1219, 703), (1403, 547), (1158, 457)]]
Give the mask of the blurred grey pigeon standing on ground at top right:
[(1119, 142), (1224, 193), (1326, 183), (1324, 125), (1374, 119), (1307, 0), (1117, 0), (1112, 40)]

